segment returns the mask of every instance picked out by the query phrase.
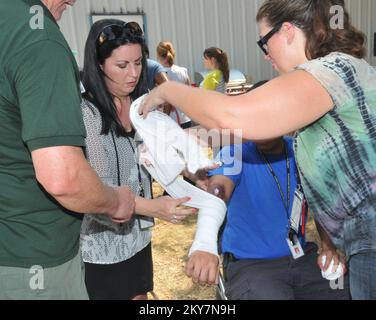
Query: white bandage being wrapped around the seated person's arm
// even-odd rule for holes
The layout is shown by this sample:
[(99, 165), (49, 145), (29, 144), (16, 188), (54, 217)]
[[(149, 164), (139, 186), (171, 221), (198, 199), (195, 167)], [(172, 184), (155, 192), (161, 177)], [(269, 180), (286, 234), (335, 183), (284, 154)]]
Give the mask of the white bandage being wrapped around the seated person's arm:
[(198, 169), (214, 165), (201, 147), (175, 121), (161, 112), (151, 112), (146, 119), (138, 114), (143, 97), (132, 103), (130, 118), (145, 144), (140, 162), (150, 175), (173, 198), (190, 197), (185, 205), (199, 209), (197, 230), (192, 247), (218, 255), (218, 232), (226, 215), (226, 204), (219, 198), (196, 188), (179, 177), (182, 170), (195, 174)]

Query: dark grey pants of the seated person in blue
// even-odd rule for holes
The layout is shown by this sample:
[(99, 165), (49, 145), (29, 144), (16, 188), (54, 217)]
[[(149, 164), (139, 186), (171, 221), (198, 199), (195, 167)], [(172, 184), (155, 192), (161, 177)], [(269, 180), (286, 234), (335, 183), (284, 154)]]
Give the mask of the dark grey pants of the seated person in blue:
[(226, 295), (230, 300), (347, 300), (348, 277), (325, 280), (317, 265), (317, 246), (308, 243), (305, 256), (294, 260), (224, 261)]

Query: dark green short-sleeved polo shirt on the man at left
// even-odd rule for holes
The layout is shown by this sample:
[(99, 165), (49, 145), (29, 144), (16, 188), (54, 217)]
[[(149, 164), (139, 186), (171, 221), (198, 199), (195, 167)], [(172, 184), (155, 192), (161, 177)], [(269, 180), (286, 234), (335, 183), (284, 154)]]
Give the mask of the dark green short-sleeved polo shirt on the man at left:
[(0, 12), (0, 265), (54, 267), (77, 255), (81, 220), (38, 184), (31, 152), (85, 145), (78, 68), (41, 2), (1, 0)]

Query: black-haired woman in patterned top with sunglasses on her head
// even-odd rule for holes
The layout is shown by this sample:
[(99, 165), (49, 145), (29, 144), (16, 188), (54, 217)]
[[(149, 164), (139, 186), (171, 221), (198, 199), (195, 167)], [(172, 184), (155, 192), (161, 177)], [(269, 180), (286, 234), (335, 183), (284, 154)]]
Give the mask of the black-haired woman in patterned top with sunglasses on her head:
[(189, 198), (151, 200), (151, 178), (137, 161), (129, 109), (147, 90), (144, 46), (134, 24), (119, 20), (98, 21), (86, 42), (82, 112), (87, 158), (105, 184), (128, 185), (136, 195), (135, 214), (127, 223), (99, 215), (83, 220), (81, 251), (90, 299), (147, 299), (153, 289), (152, 218), (178, 223), (196, 212), (178, 208)]

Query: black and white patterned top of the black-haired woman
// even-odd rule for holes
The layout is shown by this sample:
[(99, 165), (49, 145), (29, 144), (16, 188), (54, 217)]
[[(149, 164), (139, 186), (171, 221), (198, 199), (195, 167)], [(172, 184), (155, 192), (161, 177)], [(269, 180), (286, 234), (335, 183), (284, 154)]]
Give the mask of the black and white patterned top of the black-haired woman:
[[(116, 149), (119, 155), (121, 185), (129, 186), (135, 194), (140, 192), (135, 140), (131, 137), (101, 135), (102, 118), (90, 102), (81, 104), (86, 127), (86, 156), (101, 178), (109, 186), (118, 185)], [(116, 143), (116, 148), (114, 145)], [(130, 145), (132, 143), (133, 149)], [(151, 180), (147, 171), (140, 167), (145, 198), (151, 198)], [(151, 230), (141, 230), (139, 219), (134, 217), (122, 225), (114, 223), (107, 215), (85, 215), (81, 227), (81, 252), (85, 262), (114, 264), (127, 260), (144, 249), (151, 241)]]

